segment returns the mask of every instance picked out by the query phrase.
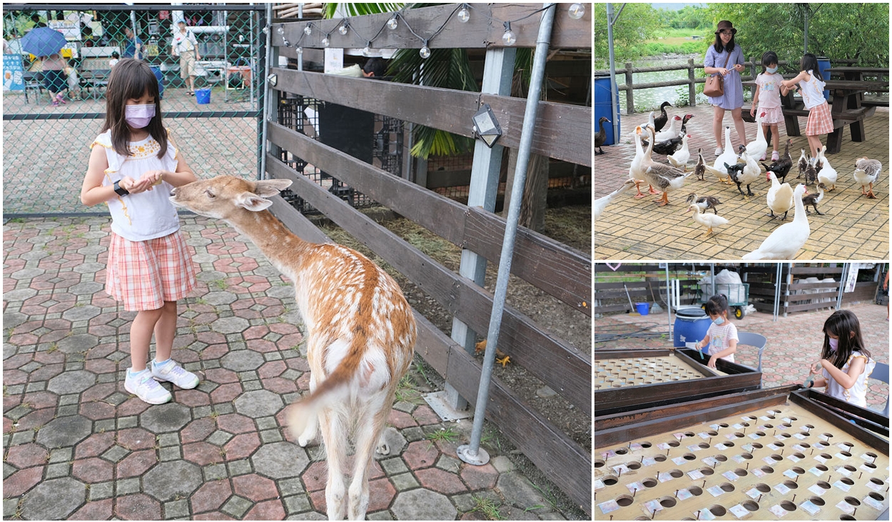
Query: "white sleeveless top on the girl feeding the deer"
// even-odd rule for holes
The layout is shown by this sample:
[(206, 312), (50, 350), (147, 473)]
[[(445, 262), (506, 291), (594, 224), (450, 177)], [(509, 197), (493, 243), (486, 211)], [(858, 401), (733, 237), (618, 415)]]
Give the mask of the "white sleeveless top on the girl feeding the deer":
[[(162, 158), (158, 157), (161, 144), (152, 136), (130, 142), (129, 148), (133, 151), (130, 156), (122, 156), (111, 148), (111, 130), (96, 137), (90, 148), (95, 145), (103, 146), (109, 162), (103, 186), (112, 186), (125, 176), (139, 179), (146, 170), (177, 170), (177, 147), (169, 137), (168, 150)], [(146, 241), (176, 232), (179, 217), (169, 200), (172, 187), (163, 181), (139, 194), (115, 195), (106, 202), (111, 213), (111, 231), (130, 241)]]

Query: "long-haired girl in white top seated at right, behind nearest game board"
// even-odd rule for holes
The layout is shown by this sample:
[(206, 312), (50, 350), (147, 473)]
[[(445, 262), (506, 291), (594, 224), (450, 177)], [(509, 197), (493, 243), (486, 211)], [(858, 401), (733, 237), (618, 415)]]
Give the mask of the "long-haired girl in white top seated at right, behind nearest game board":
[(824, 321), (824, 346), (821, 360), (812, 365), (819, 375), (806, 383), (811, 387), (827, 387), (826, 394), (862, 408), (867, 407), (867, 377), (877, 365), (864, 347), (861, 326), (855, 313), (834, 311)]

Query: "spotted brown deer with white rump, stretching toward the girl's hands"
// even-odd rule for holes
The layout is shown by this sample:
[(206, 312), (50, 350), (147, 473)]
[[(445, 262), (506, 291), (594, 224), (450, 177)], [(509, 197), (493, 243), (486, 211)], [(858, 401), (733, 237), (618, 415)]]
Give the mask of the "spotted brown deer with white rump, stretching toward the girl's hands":
[[(288, 179), (202, 179), (172, 191), (170, 201), (224, 220), (248, 236), (294, 285), (310, 363), (310, 395), (290, 406), (288, 423), (301, 446), (321, 428), (326, 446), (328, 518), (365, 519), (368, 473), (390, 413), (393, 395), (409, 369), (415, 319), (400, 286), (361, 253), (339, 244), (295, 236), (266, 210), (268, 197)], [(350, 487), (343, 470), (355, 447)]]

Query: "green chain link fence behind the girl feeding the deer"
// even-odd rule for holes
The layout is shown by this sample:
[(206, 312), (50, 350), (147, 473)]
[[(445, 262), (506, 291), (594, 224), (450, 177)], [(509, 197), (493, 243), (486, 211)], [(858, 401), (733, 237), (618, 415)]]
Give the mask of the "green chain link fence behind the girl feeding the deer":
[[(152, 67), (165, 126), (197, 175), (257, 177), (266, 6), (131, 7), (4, 4), (5, 217), (104, 214), (85, 207), (79, 196), (118, 57), (135, 56)], [(187, 46), (197, 53), (194, 94), (171, 46), (180, 20), (197, 44)], [(44, 60), (22, 49), (21, 38), (37, 27), (65, 37), (63, 82), (54, 84), (55, 73), (45, 73)], [(48, 87), (58, 90), (63, 103), (54, 104)]]

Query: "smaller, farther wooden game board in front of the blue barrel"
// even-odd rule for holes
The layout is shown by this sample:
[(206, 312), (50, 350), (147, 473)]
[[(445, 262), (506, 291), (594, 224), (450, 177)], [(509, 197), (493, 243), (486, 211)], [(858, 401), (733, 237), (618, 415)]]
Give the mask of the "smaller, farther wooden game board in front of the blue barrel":
[(689, 349), (595, 350), (595, 415), (755, 390), (762, 383), (755, 369), (726, 360), (710, 369), (708, 361)]

